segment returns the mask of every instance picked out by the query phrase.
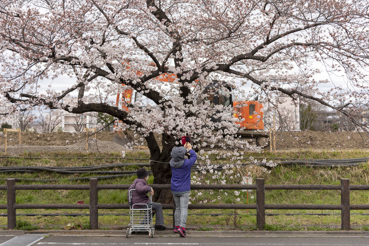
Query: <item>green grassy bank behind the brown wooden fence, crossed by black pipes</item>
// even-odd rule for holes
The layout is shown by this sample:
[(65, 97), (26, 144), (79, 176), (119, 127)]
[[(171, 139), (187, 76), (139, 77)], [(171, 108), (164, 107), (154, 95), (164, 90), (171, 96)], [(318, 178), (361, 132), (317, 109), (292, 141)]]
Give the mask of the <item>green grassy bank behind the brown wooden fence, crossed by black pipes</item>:
[[(0, 155), (3, 155), (1, 153)], [(251, 154), (246, 154), (245, 158)], [(253, 153), (253, 157), (263, 158), (316, 158), (316, 159), (346, 159), (346, 158), (361, 158), (367, 157), (368, 152), (361, 150), (352, 151), (296, 151), (296, 152), (277, 152), (277, 153)], [(135, 159), (83, 159), (82, 157), (120, 157), (120, 153), (103, 154), (98, 155), (96, 153), (75, 153), (75, 152), (51, 152), (51, 153), (29, 153), (25, 152), (24, 157), (47, 157), (46, 159), (29, 159), (29, 158), (0, 158), (2, 166), (90, 166), (90, 165), (103, 165), (113, 164), (118, 162), (129, 163), (142, 163), (147, 160), (135, 160)], [(76, 159), (54, 159), (54, 157), (77, 157)], [(145, 152), (133, 152), (128, 155), (130, 158), (148, 158), (148, 154)], [(221, 164), (227, 163), (224, 159), (213, 159), (212, 162)], [(121, 168), (115, 168), (110, 170), (125, 170), (132, 171), (137, 170), (138, 166), (127, 166)], [(149, 168), (148, 168), (149, 169)], [(256, 170), (257, 168), (254, 167)], [(369, 165), (364, 164), (356, 167), (341, 167), (341, 168), (311, 168), (307, 166), (277, 166), (270, 169), (270, 173), (260, 172), (258, 170), (252, 172), (252, 178), (265, 178), (265, 184), (326, 184), (326, 185), (339, 185), (341, 178), (349, 178), (351, 185), (368, 185), (368, 170)], [(234, 170), (237, 172), (237, 170)], [(246, 170), (241, 170), (246, 171)], [(82, 175), (63, 175), (48, 172), (38, 173), (0, 173), (0, 185), (6, 184), (7, 178), (32, 178), (32, 179), (64, 179), (58, 182), (51, 182), (48, 184), (88, 184), (88, 180), (70, 181), (66, 178), (74, 177), (88, 177), (89, 174)], [(229, 175), (228, 175), (229, 176)], [(135, 179), (135, 176), (126, 176), (115, 179), (99, 180), (99, 184), (130, 184)], [(212, 178), (212, 175), (207, 174), (201, 182), (209, 180), (210, 184), (217, 182)], [(153, 177), (149, 177), (148, 183), (153, 182)], [(237, 183), (237, 180), (227, 178), (227, 183)], [(37, 181), (21, 181), (17, 182), (17, 185), (21, 184), (45, 184), (45, 182)], [(200, 190), (192, 191), (192, 197)], [(207, 200), (209, 203), (214, 200), (213, 203), (256, 203), (256, 192), (251, 193), (242, 192), (239, 196), (236, 196), (232, 190), (203, 190), (202, 198), (194, 197), (191, 203), (203, 203)], [(227, 193), (227, 196), (224, 193)], [(221, 199), (218, 200), (217, 197)], [(236, 198), (240, 198), (241, 201), (236, 201)], [(254, 198), (252, 198), (254, 197)], [(100, 190), (98, 193), (99, 203), (127, 203), (127, 192), (125, 190)], [(338, 190), (266, 190), (265, 191), (265, 203), (266, 204), (340, 204), (340, 191)], [(350, 204), (366, 204), (369, 202), (369, 194), (366, 191), (351, 191)], [(16, 203), (65, 203), (76, 204), (78, 200), (84, 200), (85, 204), (89, 203), (89, 191), (88, 190), (17, 190), (16, 191)], [(6, 191), (0, 191), (0, 203), (6, 204)], [(35, 210), (25, 209), (17, 210), (17, 213), (55, 213), (55, 214), (68, 214), (68, 213), (88, 213), (89, 210), (75, 209), (75, 210)], [(165, 210), (164, 214), (171, 214), (171, 210)], [(189, 215), (187, 218), (188, 225), (202, 225), (201, 230), (208, 230), (215, 225), (229, 225), (232, 228), (250, 230), (255, 228), (256, 225), (256, 211), (255, 210), (237, 210), (237, 214), (234, 215), (234, 210), (190, 210), (189, 214), (231, 214), (231, 215)], [(276, 216), (266, 217), (266, 228), (268, 230), (300, 230), (306, 229), (301, 225), (319, 225), (318, 228), (334, 228), (334, 225), (341, 224), (340, 211), (317, 211), (317, 210), (266, 210), (266, 213), (280, 214)], [(5, 214), (6, 210), (1, 210), (1, 214)], [(100, 214), (128, 214), (128, 210), (99, 210)], [(286, 215), (287, 213), (296, 213), (299, 215)], [(307, 215), (309, 213), (315, 213), (320, 215)], [(323, 214), (335, 214), (324, 216)], [(353, 210), (351, 213), (366, 214), (365, 210)], [(17, 219), (22, 221), (17, 228), (25, 228), (30, 225), (36, 225), (39, 228), (61, 228), (60, 225), (67, 225), (70, 222), (83, 225), (83, 228), (89, 228), (88, 216), (18, 216)], [(165, 224), (172, 224), (172, 216), (165, 215)], [(236, 222), (235, 222), (236, 221)], [(27, 223), (28, 224), (27, 224)], [(26, 223), (26, 224), (25, 224)], [(116, 216), (116, 215), (100, 215), (100, 225), (127, 225), (129, 223), (128, 216)], [(0, 225), (6, 225), (7, 218), (0, 217)], [(363, 225), (363, 230), (369, 230), (369, 215), (351, 215), (351, 224)], [(248, 226), (242, 226), (248, 225)], [(366, 227), (365, 227), (366, 226)], [(313, 227), (308, 227), (314, 229)], [(0, 228), (1, 229), (1, 228)], [(314, 230), (318, 230), (315, 228)]]

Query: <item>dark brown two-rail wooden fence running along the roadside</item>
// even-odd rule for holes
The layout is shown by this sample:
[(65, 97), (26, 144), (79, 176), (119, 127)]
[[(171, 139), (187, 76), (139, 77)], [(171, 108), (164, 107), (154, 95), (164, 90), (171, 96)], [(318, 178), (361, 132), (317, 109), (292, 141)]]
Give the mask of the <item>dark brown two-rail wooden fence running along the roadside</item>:
[[(154, 189), (170, 189), (170, 185), (150, 185)], [(99, 204), (98, 190), (125, 189), (130, 185), (98, 185), (97, 179), (90, 179), (89, 185), (15, 185), (15, 179), (7, 179), (8, 229), (14, 229), (16, 209), (89, 209), (91, 229), (98, 229), (99, 209), (128, 209), (128, 204)], [(256, 209), (256, 226), (263, 230), (266, 209), (309, 209), (341, 210), (341, 229), (350, 229), (350, 210), (366, 210), (369, 204), (350, 205), (350, 190), (369, 190), (369, 185), (350, 185), (349, 179), (341, 179), (341, 185), (265, 185), (264, 179), (256, 179), (256, 185), (191, 185), (192, 190), (256, 190), (256, 204), (189, 204), (189, 209)], [(16, 204), (15, 190), (90, 190), (90, 204)], [(341, 204), (265, 204), (265, 190), (341, 190)], [(173, 204), (162, 204), (163, 209), (173, 209)], [(174, 218), (173, 218), (174, 220)]]

